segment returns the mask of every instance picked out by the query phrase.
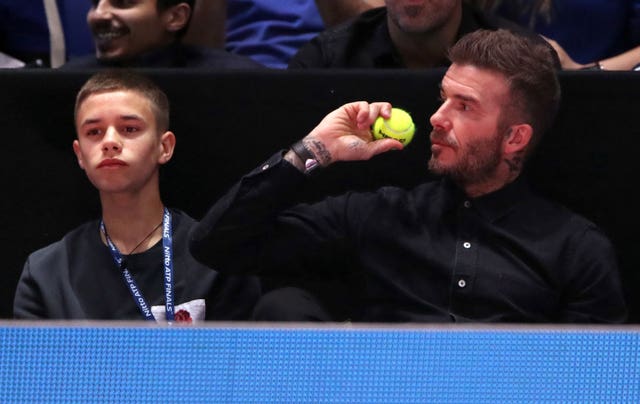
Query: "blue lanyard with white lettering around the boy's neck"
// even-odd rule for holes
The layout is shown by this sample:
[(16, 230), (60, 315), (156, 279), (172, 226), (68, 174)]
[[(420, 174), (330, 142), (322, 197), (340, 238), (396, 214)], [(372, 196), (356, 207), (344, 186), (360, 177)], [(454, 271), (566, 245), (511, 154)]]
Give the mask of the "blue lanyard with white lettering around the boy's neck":
[[(118, 247), (113, 244), (111, 238), (107, 234), (107, 230), (104, 226), (104, 222), (100, 221), (100, 231), (104, 234), (104, 238), (107, 240), (107, 245), (111, 251), (111, 256), (115, 261), (118, 268), (122, 270), (122, 276), (124, 277), (129, 291), (133, 296), (136, 304), (140, 308), (140, 312), (146, 320), (155, 320), (151, 313), (151, 307), (142, 296), (142, 292), (136, 285), (131, 272), (127, 268), (127, 261), (122, 256), (122, 253), (118, 250)], [(163, 266), (164, 266), (164, 300), (165, 300), (165, 312), (167, 321), (172, 322), (174, 319), (174, 301), (173, 301), (173, 239), (171, 228), (171, 213), (169, 209), (164, 208), (164, 214), (162, 216), (162, 252), (164, 254)]]

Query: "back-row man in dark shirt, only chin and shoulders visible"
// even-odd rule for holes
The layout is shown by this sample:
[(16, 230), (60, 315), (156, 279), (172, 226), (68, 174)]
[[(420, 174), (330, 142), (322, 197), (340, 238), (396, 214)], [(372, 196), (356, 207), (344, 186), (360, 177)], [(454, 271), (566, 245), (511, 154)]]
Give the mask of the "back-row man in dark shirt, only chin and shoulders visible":
[(480, 28), (523, 31), (463, 0), (385, 0), (303, 45), (289, 68), (429, 68), (448, 64), (447, 49)]

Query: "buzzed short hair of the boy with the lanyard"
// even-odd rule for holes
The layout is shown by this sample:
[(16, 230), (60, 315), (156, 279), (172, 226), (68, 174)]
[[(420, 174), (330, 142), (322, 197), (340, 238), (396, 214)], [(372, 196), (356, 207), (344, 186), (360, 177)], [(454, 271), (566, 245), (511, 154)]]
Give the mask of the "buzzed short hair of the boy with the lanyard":
[(91, 76), (76, 96), (74, 116), (91, 95), (114, 91), (134, 91), (149, 100), (160, 132), (169, 129), (169, 99), (149, 78), (127, 69), (103, 70)]

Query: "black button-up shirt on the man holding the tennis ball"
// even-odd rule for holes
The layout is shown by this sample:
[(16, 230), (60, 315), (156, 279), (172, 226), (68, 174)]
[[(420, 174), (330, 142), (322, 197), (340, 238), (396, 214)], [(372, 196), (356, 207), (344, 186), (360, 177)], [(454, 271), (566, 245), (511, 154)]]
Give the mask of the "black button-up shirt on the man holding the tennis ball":
[(279, 155), (245, 176), (192, 233), (194, 255), (221, 271), (301, 273), (348, 257), (362, 321), (625, 320), (608, 238), (523, 179), (473, 199), (441, 179), (284, 209), (303, 178)]

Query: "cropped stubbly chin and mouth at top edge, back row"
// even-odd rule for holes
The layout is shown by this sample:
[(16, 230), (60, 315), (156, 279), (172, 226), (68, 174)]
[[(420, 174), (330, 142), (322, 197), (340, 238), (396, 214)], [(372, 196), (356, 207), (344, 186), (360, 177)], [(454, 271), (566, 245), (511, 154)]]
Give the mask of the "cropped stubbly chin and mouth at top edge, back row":
[(385, 0), (389, 17), (400, 31), (423, 34), (441, 29), (460, 7), (460, 0)]

